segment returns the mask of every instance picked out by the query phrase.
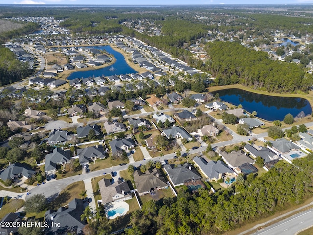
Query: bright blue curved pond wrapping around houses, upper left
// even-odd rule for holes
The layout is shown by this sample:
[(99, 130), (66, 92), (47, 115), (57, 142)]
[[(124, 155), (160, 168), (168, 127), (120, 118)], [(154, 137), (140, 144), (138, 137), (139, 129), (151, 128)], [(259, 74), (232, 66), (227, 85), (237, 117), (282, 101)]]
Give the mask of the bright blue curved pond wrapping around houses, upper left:
[[(105, 50), (108, 53), (114, 55), (116, 58), (116, 62), (112, 64), (111, 66), (107, 66), (104, 68), (100, 69), (95, 69), (95, 70), (88, 70), (88, 71), (78, 71), (78, 72), (73, 72), (71, 73), (68, 77), (67, 80), (72, 80), (75, 78), (86, 78), (86, 77), (98, 77), (98, 76), (111, 76), (111, 75), (121, 75), (121, 74), (130, 74), (130, 73), (138, 73), (135, 71), (132, 67), (130, 67), (124, 58), (124, 56), (117, 52), (116, 50), (113, 50), (110, 45), (105, 45), (105, 46), (88, 46), (88, 47), (81, 47), (81, 48), (94, 48), (98, 50)], [(114, 70), (112, 70), (112, 67)], [(111, 69), (110, 69), (111, 68)]]

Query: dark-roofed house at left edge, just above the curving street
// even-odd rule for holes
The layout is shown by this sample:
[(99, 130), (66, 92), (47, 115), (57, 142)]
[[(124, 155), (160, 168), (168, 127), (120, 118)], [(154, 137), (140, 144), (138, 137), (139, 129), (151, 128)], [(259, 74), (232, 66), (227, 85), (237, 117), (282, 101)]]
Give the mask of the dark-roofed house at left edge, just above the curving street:
[(3, 181), (16, 181), (20, 177), (25, 177), (26, 179), (29, 179), (35, 174), (36, 171), (30, 168), (28, 165), (22, 164), (20, 162), (15, 162), (13, 164), (10, 164), (8, 167), (0, 172), (0, 179)]

